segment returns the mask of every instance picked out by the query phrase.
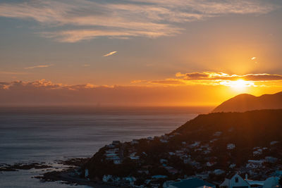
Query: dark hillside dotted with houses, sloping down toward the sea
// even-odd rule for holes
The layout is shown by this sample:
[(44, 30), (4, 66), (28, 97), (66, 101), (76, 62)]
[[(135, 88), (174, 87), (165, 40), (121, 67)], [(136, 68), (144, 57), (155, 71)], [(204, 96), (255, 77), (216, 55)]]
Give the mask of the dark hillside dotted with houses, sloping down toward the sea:
[(119, 185), (122, 177), (146, 185), (159, 175), (154, 181), (197, 175), (220, 182), (238, 171), (263, 179), (282, 168), (281, 127), (282, 110), (198, 115), (161, 137), (106, 145), (84, 169), (90, 180), (111, 177)]

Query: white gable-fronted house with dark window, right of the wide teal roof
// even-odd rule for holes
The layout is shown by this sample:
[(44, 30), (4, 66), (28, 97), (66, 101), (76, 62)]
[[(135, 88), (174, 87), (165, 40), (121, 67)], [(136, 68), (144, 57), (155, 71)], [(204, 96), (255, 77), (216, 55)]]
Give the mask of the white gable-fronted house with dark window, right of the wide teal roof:
[(226, 178), (220, 185), (221, 188), (250, 188), (250, 184), (240, 175), (235, 174), (230, 179)]

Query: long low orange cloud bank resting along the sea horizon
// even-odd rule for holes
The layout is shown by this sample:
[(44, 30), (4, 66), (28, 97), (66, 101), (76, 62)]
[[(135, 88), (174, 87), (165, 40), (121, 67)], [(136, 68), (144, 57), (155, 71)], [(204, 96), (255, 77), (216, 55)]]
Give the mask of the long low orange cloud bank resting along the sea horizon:
[[(146, 85), (106, 86), (94, 84), (61, 84), (49, 80), (32, 82), (0, 82), (0, 104), (2, 106), (199, 106), (220, 104), (234, 95), (231, 81), (178, 80), (151, 81), (137, 80)], [(189, 83), (190, 82), (190, 83)], [(229, 85), (228, 85), (229, 84)], [(244, 82), (246, 87), (254, 85)], [(282, 83), (276, 86), (264, 82), (264, 87), (252, 87), (259, 94), (281, 91)], [(280, 85), (279, 85), (280, 84)], [(208, 94), (207, 94), (208, 91)], [(219, 97), (220, 96), (220, 97)]]

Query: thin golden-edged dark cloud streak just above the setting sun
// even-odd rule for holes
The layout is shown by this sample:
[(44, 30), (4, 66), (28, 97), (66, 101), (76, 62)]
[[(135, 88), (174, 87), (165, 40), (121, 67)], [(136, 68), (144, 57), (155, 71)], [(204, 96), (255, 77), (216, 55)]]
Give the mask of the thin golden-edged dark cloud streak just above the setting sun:
[(200, 73), (176, 73), (176, 78), (166, 78), (165, 80), (133, 80), (132, 83), (164, 84), (164, 85), (230, 85), (236, 80), (245, 80), (247, 86), (255, 86), (254, 82), (282, 82), (282, 75), (247, 74), (247, 75), (229, 75), (219, 72), (200, 72)]

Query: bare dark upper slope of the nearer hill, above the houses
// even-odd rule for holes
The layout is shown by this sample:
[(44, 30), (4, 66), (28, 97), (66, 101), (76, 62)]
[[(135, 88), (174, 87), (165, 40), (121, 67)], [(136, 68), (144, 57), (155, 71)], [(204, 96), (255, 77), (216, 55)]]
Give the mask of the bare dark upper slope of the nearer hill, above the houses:
[[(198, 115), (174, 132), (189, 134), (195, 140), (212, 138), (214, 132), (222, 132), (226, 139), (241, 144), (269, 144), (271, 140), (282, 141), (282, 110), (257, 110), (245, 113), (209, 113)], [(254, 145), (255, 146), (255, 145)]]

